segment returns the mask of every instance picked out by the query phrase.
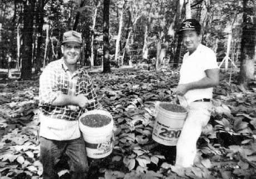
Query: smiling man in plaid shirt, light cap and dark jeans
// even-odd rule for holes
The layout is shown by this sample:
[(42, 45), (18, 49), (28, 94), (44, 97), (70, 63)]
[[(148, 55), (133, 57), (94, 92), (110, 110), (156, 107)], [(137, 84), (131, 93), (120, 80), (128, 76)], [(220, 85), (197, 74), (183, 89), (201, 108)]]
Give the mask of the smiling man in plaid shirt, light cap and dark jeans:
[(66, 154), (72, 178), (85, 178), (88, 172), (85, 141), (78, 118), (99, 109), (97, 95), (85, 69), (78, 69), (82, 50), (81, 34), (63, 34), (63, 57), (51, 62), (40, 76), (40, 145), (43, 178), (58, 178), (55, 165)]

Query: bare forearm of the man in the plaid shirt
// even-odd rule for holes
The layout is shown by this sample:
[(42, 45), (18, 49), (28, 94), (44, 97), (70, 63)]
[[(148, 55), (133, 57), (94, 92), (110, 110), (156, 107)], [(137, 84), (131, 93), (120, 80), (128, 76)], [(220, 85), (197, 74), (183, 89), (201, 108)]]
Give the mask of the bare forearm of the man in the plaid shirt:
[(59, 94), (52, 102), (53, 106), (77, 105), (77, 96)]

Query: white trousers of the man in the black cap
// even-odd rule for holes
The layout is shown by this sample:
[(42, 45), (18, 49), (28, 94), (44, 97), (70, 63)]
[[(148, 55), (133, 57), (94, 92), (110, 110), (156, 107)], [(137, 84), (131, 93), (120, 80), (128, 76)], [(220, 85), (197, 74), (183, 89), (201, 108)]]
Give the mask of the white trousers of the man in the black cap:
[(193, 102), (189, 105), (188, 116), (184, 122), (176, 146), (176, 166), (191, 167), (196, 156), (196, 142), (203, 126), (210, 120), (210, 102)]

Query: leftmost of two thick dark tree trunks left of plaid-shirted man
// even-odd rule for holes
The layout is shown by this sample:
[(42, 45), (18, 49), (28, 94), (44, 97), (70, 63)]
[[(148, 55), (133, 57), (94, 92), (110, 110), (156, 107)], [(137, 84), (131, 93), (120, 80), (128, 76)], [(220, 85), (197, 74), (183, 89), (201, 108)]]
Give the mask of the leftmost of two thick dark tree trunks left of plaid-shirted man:
[(21, 79), (31, 79), (32, 75), (32, 43), (33, 43), (33, 15), (35, 9), (35, 0), (27, 0), (24, 6), (24, 27), (22, 44), (22, 67)]

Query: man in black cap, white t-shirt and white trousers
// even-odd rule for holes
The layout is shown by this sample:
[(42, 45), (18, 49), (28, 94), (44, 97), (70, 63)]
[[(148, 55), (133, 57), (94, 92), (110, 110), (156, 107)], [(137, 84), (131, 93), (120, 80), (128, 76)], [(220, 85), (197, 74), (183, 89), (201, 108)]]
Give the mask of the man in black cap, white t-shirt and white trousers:
[(201, 25), (196, 19), (186, 19), (179, 32), (188, 52), (183, 58), (175, 93), (185, 97), (188, 117), (176, 146), (175, 165), (190, 167), (196, 156), (196, 141), (210, 120), (210, 99), (213, 86), (219, 84), (219, 68), (213, 50), (201, 44)]

